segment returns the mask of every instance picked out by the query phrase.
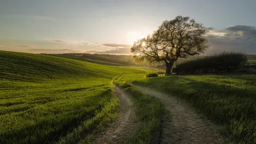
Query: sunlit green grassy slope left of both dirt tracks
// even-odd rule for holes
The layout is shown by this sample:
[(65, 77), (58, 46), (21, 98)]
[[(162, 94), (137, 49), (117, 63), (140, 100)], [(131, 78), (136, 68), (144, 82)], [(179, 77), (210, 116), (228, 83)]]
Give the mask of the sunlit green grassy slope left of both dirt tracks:
[(145, 70), (0, 51), (0, 143), (88, 142), (116, 117), (113, 77)]

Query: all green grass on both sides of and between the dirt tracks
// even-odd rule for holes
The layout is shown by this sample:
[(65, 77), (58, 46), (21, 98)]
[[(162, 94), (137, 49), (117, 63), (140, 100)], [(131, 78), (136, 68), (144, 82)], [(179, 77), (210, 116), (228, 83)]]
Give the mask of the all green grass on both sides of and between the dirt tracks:
[(164, 115), (156, 97), (129, 83), (185, 99), (231, 140), (256, 143), (256, 74), (145, 78), (145, 68), (74, 59), (0, 51), (0, 143), (92, 143), (118, 113), (112, 82), (136, 109), (128, 143), (150, 143)]

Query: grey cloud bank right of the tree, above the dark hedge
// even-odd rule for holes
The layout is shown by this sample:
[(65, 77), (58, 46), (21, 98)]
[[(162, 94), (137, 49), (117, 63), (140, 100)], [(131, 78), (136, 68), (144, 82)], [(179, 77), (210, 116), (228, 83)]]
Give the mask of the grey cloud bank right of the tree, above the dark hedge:
[(205, 54), (222, 51), (256, 54), (256, 29), (252, 26), (232, 26), (224, 30), (208, 28), (205, 35), (209, 40), (209, 49)]

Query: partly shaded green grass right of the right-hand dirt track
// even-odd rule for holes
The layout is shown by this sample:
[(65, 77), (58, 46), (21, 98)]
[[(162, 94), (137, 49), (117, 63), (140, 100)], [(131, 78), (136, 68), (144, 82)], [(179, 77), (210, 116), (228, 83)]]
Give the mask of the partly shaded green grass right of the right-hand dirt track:
[[(132, 79), (127, 75), (124, 79)], [(223, 132), (239, 143), (256, 143), (256, 74), (170, 76), (140, 78), (148, 86), (188, 100), (223, 125)]]

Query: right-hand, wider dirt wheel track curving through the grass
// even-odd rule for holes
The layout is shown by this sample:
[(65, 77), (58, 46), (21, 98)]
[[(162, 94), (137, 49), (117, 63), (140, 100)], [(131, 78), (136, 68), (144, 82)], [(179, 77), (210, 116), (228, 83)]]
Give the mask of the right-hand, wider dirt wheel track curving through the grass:
[(170, 112), (170, 119), (166, 118), (163, 122), (161, 143), (228, 143), (216, 125), (186, 102), (150, 88), (136, 85), (134, 88), (159, 98)]

